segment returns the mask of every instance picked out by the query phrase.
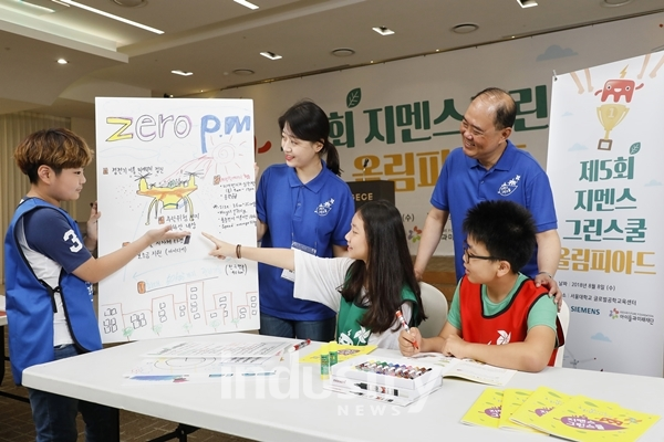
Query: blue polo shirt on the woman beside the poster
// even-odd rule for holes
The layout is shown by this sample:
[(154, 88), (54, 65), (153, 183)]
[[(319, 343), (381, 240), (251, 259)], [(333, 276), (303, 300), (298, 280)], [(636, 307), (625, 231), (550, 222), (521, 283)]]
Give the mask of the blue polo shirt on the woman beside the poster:
[[(347, 245), (355, 203), (349, 185), (328, 169), (303, 185), (287, 165), (268, 167), (258, 185), (256, 213), (268, 225), (262, 248), (315, 251), (332, 257), (332, 244)], [(281, 277), (282, 269), (258, 265), (261, 312), (289, 320), (322, 320), (336, 313), (323, 304), (293, 297), (293, 283)]]

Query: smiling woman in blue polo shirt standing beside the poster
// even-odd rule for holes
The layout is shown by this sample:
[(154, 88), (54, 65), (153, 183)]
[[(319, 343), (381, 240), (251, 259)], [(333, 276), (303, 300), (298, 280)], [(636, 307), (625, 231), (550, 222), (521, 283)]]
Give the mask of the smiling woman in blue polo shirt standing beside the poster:
[[(351, 189), (339, 177), (328, 115), (313, 102), (302, 101), (279, 117), (279, 128), (286, 164), (263, 171), (256, 194), (261, 246), (341, 256), (355, 207)], [(261, 335), (334, 339), (335, 312), (294, 298), (292, 272), (259, 264), (258, 275)]]

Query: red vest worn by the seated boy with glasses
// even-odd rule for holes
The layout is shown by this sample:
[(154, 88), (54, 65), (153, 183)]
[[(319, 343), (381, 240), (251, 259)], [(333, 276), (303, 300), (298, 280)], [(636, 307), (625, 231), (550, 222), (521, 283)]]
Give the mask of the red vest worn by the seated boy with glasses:
[[(501, 345), (522, 343), (528, 334), (528, 313), (540, 297), (548, 296), (546, 287), (536, 287), (532, 280), (525, 280), (511, 302), (504, 311), (487, 316), (481, 304), (481, 285), (461, 278), (459, 286), (459, 306), (461, 313), (461, 334), (467, 343)], [(556, 318), (557, 348), (564, 345), (562, 327)], [(549, 366), (556, 361), (557, 349), (551, 354)]]

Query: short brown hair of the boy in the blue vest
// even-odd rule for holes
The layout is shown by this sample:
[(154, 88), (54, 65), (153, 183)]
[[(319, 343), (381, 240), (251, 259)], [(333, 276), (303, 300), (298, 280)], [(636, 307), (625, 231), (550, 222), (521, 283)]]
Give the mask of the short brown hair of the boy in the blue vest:
[(49, 166), (60, 175), (62, 169), (87, 166), (92, 161), (92, 150), (83, 138), (69, 129), (42, 129), (17, 146), (14, 160), (30, 182), (35, 183), (40, 166)]

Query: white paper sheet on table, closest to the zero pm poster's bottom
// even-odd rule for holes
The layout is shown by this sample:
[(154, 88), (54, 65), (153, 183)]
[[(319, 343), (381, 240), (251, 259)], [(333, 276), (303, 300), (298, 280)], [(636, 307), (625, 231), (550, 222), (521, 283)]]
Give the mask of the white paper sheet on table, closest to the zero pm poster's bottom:
[(156, 348), (145, 357), (152, 358), (216, 358), (216, 357), (262, 357), (280, 355), (291, 343), (172, 343)]

